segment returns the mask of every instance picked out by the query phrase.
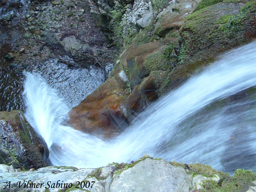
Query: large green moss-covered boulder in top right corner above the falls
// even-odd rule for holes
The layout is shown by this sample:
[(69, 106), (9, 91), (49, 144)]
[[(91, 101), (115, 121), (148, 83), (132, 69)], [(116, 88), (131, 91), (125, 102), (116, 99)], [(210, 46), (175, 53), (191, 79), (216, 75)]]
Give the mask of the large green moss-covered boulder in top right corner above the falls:
[(223, 1), (191, 13), (180, 28), (180, 62), (204, 61), (254, 39), (255, 11), (256, 2), (244, 0)]

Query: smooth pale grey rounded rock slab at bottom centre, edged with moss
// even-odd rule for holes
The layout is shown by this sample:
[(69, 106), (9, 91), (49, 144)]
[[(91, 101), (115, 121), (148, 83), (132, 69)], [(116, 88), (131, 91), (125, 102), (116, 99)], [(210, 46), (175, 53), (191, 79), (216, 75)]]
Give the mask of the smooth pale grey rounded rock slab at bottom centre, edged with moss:
[[(189, 191), (192, 176), (184, 168), (164, 160), (145, 159), (119, 175), (114, 174), (109, 192)], [(154, 181), (154, 182), (152, 182)]]

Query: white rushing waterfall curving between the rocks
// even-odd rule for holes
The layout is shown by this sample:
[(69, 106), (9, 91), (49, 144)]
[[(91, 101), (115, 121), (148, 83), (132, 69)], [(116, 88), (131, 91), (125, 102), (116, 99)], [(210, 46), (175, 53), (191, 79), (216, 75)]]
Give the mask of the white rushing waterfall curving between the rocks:
[(224, 54), (148, 106), (109, 142), (64, 126), (70, 109), (35, 73), (26, 74), (26, 116), (46, 141), (54, 165), (96, 168), (149, 154), (168, 161), (210, 164), (227, 172), (255, 171), (255, 101), (240, 99), (203, 111), (212, 102), (256, 85), (255, 53), (253, 42)]

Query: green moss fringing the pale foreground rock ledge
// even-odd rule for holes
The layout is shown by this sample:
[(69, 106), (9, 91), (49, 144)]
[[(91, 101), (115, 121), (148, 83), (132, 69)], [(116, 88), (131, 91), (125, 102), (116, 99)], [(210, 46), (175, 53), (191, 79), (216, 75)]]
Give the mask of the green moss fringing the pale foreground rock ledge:
[[(131, 163), (112, 163), (108, 164), (114, 166), (114, 174), (119, 175), (124, 170), (134, 167), (134, 165), (139, 162), (150, 158), (155, 160), (163, 160), (162, 158), (153, 158), (149, 155), (144, 155), (139, 158), (137, 161), (132, 161)], [(184, 164), (178, 163), (176, 161), (169, 161), (169, 164), (172, 164), (175, 167), (182, 167), (187, 170), (187, 173), (192, 175), (194, 178), (197, 175), (202, 175), (206, 178), (219, 177), (219, 181), (215, 180), (204, 180), (202, 181), (202, 188), (199, 190), (195, 186), (191, 186), (197, 192), (241, 192), (247, 191), (250, 186), (254, 186), (256, 180), (256, 174), (252, 171), (246, 171), (244, 169), (237, 169), (233, 176), (230, 176), (228, 173), (222, 171), (217, 171), (213, 169), (210, 165), (204, 165), (200, 163), (195, 164)]]

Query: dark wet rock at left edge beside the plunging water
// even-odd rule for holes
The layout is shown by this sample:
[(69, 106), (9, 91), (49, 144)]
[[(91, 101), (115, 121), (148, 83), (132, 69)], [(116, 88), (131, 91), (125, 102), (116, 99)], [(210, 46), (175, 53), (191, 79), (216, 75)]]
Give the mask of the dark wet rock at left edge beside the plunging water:
[(47, 145), (41, 137), (36, 136), (22, 111), (0, 112), (0, 137), (1, 147), (11, 150), (18, 160), (16, 162), (16, 158), (10, 154), (2, 156), (1, 153), (6, 164), (26, 169), (48, 166), (44, 160), (49, 156)]

